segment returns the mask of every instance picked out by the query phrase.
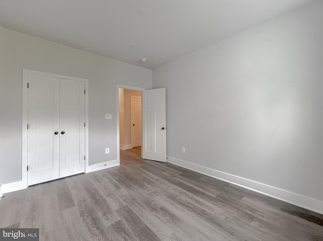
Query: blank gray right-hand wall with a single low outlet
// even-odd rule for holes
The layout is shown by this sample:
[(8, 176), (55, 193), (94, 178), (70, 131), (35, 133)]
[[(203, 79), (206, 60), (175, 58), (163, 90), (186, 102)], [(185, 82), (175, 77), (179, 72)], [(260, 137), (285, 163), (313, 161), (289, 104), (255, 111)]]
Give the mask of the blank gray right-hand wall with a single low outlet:
[(168, 156), (323, 200), (322, 13), (314, 2), (154, 69)]

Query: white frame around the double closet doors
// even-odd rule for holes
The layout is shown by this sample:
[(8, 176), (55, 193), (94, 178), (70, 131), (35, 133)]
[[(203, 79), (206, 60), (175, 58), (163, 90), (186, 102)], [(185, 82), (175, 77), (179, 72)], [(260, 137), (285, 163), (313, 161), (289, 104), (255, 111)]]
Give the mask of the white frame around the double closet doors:
[(85, 172), (89, 169), (89, 158), (88, 158), (88, 86), (89, 80), (78, 78), (78, 77), (71, 77), (65, 75), (58, 75), (58, 74), (51, 74), (46, 72), (40, 72), (35, 70), (28, 70), (22, 69), (22, 186), (28, 187), (28, 172), (27, 172), (27, 165), (28, 165), (28, 74), (35, 74), (35, 75), (43, 75), (43, 76), (50, 76), (60, 79), (69, 79), (69, 80), (76, 80), (76, 81), (83, 81), (85, 83)]

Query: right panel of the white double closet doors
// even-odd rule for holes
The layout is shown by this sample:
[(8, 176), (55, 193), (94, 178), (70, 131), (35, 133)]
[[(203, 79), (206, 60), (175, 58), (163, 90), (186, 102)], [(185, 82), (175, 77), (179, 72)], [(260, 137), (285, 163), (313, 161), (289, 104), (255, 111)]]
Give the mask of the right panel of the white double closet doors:
[(61, 79), (60, 178), (85, 171), (85, 96), (82, 81)]

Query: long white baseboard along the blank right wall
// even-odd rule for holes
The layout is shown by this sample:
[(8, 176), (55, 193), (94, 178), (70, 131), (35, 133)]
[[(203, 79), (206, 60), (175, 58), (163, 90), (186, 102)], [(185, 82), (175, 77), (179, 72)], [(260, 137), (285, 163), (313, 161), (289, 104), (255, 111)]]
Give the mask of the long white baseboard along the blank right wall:
[(272, 187), (266, 184), (258, 183), (253, 180), (249, 180), (240, 176), (232, 175), (223, 171), (214, 170), (205, 166), (197, 165), (191, 162), (187, 162), (175, 157), (168, 156), (168, 162), (178, 166), (182, 166), (186, 169), (190, 169), (225, 182), (255, 191), (257, 193), (270, 196), (281, 201), (294, 204), (296, 206), (312, 210), (317, 213), (323, 214), (323, 201), (309, 198), (300, 194), (292, 193), (280, 188)]

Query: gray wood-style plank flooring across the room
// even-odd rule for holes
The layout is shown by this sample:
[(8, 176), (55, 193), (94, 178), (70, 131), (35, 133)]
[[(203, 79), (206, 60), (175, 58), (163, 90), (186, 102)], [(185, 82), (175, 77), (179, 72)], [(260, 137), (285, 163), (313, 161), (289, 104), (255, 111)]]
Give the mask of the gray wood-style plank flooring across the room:
[(323, 240), (323, 215), (121, 150), (120, 166), (5, 194), (0, 227), (40, 240)]

